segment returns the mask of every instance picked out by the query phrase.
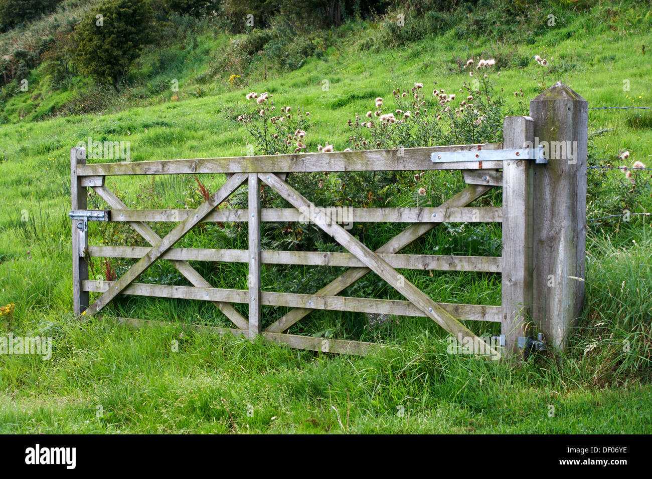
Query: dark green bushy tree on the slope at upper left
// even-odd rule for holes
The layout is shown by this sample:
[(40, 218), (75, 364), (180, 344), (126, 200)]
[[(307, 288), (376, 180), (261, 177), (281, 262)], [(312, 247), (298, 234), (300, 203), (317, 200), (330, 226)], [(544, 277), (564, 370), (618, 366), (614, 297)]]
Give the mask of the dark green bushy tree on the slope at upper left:
[(76, 63), (84, 74), (111, 80), (117, 89), (143, 46), (153, 40), (148, 0), (104, 0), (76, 29)]

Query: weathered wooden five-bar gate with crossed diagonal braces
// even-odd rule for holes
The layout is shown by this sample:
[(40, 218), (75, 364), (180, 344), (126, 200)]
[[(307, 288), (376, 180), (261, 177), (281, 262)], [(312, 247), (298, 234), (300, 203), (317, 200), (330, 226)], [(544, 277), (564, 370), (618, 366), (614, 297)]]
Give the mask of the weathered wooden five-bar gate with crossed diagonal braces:
[[(211, 330), (244, 335), (248, 338), (262, 335), (266, 340), (299, 349), (351, 354), (364, 354), (373, 343), (314, 338), (286, 334), (284, 331), (316, 309), (430, 317), (456, 338), (470, 338), (476, 345), (481, 344), (487, 355), (513, 355), (518, 351), (518, 338), (525, 334), (527, 307), (531, 301), (533, 166), (535, 162), (544, 163), (546, 160), (541, 157), (541, 152), (528, 146), (533, 139), (533, 119), (507, 117), (504, 126), (504, 143), (413, 148), (403, 151), (392, 149), (86, 164), (85, 151), (74, 148), (71, 151), (73, 211), (70, 214), (74, 311), (92, 316), (120, 294), (207, 300), (213, 302), (235, 325), (235, 328), (210, 328)], [(463, 170), (467, 184), (464, 190), (439, 207), (353, 209), (354, 222), (411, 224), (375, 252), (338, 225), (329, 216), (329, 210), (315, 207), (309, 199), (284, 181), (286, 173), (291, 172), (437, 169)], [(104, 186), (104, 178), (108, 175), (196, 173), (225, 173), (228, 179), (194, 211), (128, 209)], [(248, 209), (216, 209), (245, 183), (248, 184)], [(267, 184), (294, 208), (261, 209), (261, 184)], [(503, 188), (502, 207), (467, 206), (496, 186)], [(111, 210), (86, 210), (87, 188), (92, 188), (102, 197)], [(307, 210), (311, 211), (311, 222), (331, 235), (348, 253), (261, 250), (261, 221), (299, 221), (302, 212)], [(89, 220), (128, 222), (151, 247), (89, 246)], [(145, 224), (147, 221), (174, 221), (178, 224), (168, 235), (160, 238)], [(248, 250), (174, 248), (175, 243), (192, 227), (205, 221), (248, 222)], [(502, 256), (400, 254), (400, 250), (442, 222), (502, 222)], [(87, 257), (140, 259), (121, 278), (110, 282), (89, 280)], [(194, 286), (134, 283), (143, 271), (159, 259), (170, 261)], [(249, 272), (248, 289), (214, 288), (188, 264), (189, 260), (246, 262)], [(315, 293), (290, 294), (261, 291), (261, 263), (338, 266), (349, 269)], [(396, 268), (501, 272), (502, 304), (477, 306), (436, 302), (406, 280)], [(338, 293), (370, 271), (376, 272), (406, 300), (338, 296)], [(93, 304), (89, 304), (89, 292), (101, 293)], [(248, 304), (248, 318), (237, 312), (231, 306), (232, 303)], [(261, 305), (288, 306), (294, 309), (263, 329)], [(492, 349), (462, 325), (460, 319), (501, 323), (505, 347), (499, 351)], [(140, 321), (124, 320), (132, 324), (138, 324)]]

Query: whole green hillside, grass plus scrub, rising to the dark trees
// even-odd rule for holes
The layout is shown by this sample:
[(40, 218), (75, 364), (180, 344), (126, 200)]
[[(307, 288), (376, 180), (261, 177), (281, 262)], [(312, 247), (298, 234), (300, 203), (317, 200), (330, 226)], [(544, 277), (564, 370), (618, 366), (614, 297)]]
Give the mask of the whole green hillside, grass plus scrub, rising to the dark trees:
[[(74, 25), (91, 5), (64, 1), (53, 14), (2, 33), (3, 55), (32, 51), (44, 33), (61, 33), (61, 25)], [(393, 91), (415, 83), (423, 83), (428, 94), (435, 88), (457, 92), (472, 80), (464, 68), (467, 59), (496, 60), (482, 74), (494, 85), (493, 97), (504, 102), (500, 115), (527, 113), (529, 99), (559, 80), (587, 99), (589, 108), (652, 108), (650, 53), (645, 52), (652, 45), (652, 14), (644, 5), (541, 2), (509, 22), (505, 17), (512, 7), (468, 5), (470, 11), (430, 9), (428, 15), (408, 9), (405, 30), (392, 26), (400, 6), (344, 18), (337, 27), (293, 27), (286, 44), (274, 43), (284, 28), (280, 23), (237, 33), (228, 31), (219, 15), (173, 14), (164, 27), (169, 35), (144, 46), (117, 86), (72, 66), (57, 83), (52, 70), (57, 60), (48, 55), (25, 66), (28, 91), (20, 91), (20, 78), (8, 81), (0, 99), (0, 306), (15, 309), (3, 328), (52, 336), (55, 356), (52, 361), (0, 356), (0, 431), (649, 433), (652, 241), (643, 213), (652, 212), (652, 180), (647, 169), (631, 177), (598, 166), (652, 165), (652, 109), (589, 110), (589, 167), (595, 168), (589, 169), (587, 201), (587, 302), (571, 348), (559, 362), (533, 358), (512, 370), (450, 356), (445, 336), (432, 323), (417, 319), (373, 329), (361, 313), (314, 314), (297, 328), (315, 336), (386, 341), (386, 355), (314, 355), (182, 333), (174, 323), (227, 323), (215, 308), (185, 300), (125, 298), (110, 309), (170, 327), (134, 332), (100, 321), (72, 321), (70, 148), (89, 138), (130, 142), (132, 161), (250, 154), (261, 148), (260, 139), (237, 119), (253, 111), (245, 94), (255, 91), (268, 92), (277, 108), (310, 112), (304, 117), (306, 151), (327, 142), (342, 151), (353, 147), (349, 136), (359, 134), (349, 119), (373, 109), (374, 98), (385, 98), (394, 109), (401, 100)], [(415, 12), (413, 22), (410, 12)], [(549, 12), (556, 13), (554, 25), (548, 25)], [(290, 51), (300, 43), (306, 50)], [(14, 61), (10, 55), (7, 61)], [(548, 65), (538, 64), (535, 55)], [(501, 132), (487, 132), (481, 140), (490, 134)], [(309, 178), (293, 181), (317, 194)], [(223, 182), (222, 175), (110, 177), (107, 186), (127, 204), (183, 209), (200, 202), (199, 184), (213, 191)], [(373, 183), (361, 183), (363, 190), (374, 190)], [(427, 201), (439, 201), (461, 183), (454, 173), (442, 172), (429, 173), (420, 186), (428, 188)], [(319, 194), (334, 195), (338, 186)], [(421, 205), (426, 199), (416, 190), (410, 185), (383, 201)], [(246, 198), (233, 199), (239, 201)], [(498, 204), (500, 197), (485, 201)], [(89, 207), (103, 203), (91, 196)], [(623, 220), (625, 210), (634, 215)], [(462, 227), (465, 235), (451, 225), (419, 246), (437, 254), (499, 254), (499, 229)], [(267, 232), (270, 242), (283, 248), (337, 250), (329, 239), (308, 231)], [(394, 231), (377, 225), (357, 234), (371, 247)], [(105, 241), (140, 244), (128, 227), (102, 231), (93, 225), (91, 242)], [(246, 231), (226, 225), (184, 241), (246, 248)], [(93, 277), (130, 264), (116, 261), (107, 268), (98, 261)], [(201, 272), (216, 287), (246, 287), (246, 265)], [(270, 267), (264, 280), (270, 290), (299, 291), (334, 274), (338, 269)], [(411, 280), (441, 300), (499, 302), (499, 275), (414, 274)], [(183, 282), (164, 266), (145, 276)], [(369, 278), (349, 295), (396, 297), (380, 283)], [(482, 332), (496, 334), (492, 325)], [(178, 352), (170, 350), (172, 340), (179, 341)], [(624, 341), (631, 345), (628, 351)], [(546, 415), (550, 404), (556, 405), (555, 417)], [(97, 405), (105, 416), (96, 416)], [(258, 413), (248, 416), (248, 405)], [(411, 420), (397, 415), (400, 405)]]

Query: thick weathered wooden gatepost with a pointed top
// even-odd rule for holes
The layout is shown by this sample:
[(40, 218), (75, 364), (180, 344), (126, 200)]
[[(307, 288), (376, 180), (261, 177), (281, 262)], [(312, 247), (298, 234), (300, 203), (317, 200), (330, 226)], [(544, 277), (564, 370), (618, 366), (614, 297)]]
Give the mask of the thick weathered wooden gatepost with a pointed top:
[(530, 102), (530, 116), (548, 158), (534, 166), (532, 319), (564, 349), (584, 302), (588, 104), (559, 81)]

